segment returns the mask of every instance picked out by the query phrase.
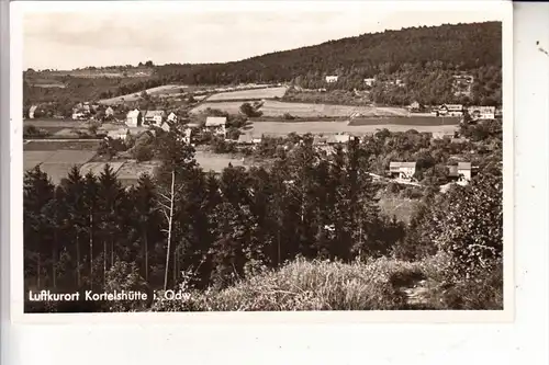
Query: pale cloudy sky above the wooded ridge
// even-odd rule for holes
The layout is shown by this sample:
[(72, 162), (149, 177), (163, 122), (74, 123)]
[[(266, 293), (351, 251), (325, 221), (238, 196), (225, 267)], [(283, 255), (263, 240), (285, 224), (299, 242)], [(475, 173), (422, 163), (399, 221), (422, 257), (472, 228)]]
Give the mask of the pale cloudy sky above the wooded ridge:
[(384, 30), (501, 20), (496, 12), (460, 9), (206, 8), (34, 9), (22, 15), (23, 67), (225, 62)]

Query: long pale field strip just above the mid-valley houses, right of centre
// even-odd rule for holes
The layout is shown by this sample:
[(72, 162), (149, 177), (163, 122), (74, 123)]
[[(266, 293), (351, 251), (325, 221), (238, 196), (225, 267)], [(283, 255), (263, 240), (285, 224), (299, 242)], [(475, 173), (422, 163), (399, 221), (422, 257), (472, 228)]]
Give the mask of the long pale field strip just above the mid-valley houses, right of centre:
[(351, 135), (367, 135), (376, 133), (376, 130), (386, 128), (390, 132), (406, 132), (415, 129), (417, 132), (442, 132), (453, 133), (457, 130), (457, 125), (430, 125), (430, 126), (410, 126), (400, 124), (377, 124), (351, 126), (348, 122), (254, 122), (251, 133), (265, 136), (285, 136), (290, 133), (304, 135), (307, 133), (314, 135), (329, 135), (337, 133), (348, 133)]

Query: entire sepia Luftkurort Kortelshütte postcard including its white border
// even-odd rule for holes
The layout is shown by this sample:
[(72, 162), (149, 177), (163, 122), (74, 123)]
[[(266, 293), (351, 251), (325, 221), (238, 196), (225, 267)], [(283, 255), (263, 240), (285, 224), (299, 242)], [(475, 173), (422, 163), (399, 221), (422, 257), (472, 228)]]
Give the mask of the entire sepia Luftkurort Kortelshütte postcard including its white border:
[(206, 3), (21, 7), (22, 312), (513, 310), (511, 7)]

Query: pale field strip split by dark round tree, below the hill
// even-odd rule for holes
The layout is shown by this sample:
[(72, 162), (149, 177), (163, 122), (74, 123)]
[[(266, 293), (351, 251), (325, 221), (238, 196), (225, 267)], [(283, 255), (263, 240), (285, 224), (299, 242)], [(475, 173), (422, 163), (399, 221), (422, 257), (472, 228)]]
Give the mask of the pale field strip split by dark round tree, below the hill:
[[(204, 102), (191, 113), (200, 113), (208, 107), (219, 109), (229, 114), (238, 114), (242, 101), (239, 102)], [(274, 100), (266, 100), (260, 111), (264, 116), (283, 116), (285, 113), (294, 117), (348, 117), (351, 114), (360, 113), (363, 116), (405, 116), (407, 111), (402, 107), (371, 107), (351, 105), (329, 105), (329, 104), (305, 104), (290, 103)]]

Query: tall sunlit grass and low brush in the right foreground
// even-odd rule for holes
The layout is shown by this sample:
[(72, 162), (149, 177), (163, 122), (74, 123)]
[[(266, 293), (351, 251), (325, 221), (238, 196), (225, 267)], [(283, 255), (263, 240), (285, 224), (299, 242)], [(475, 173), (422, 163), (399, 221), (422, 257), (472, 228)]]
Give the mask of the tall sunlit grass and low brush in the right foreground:
[[(350, 264), (298, 259), (222, 289), (190, 292), (186, 300), (157, 301), (156, 311), (293, 311), (502, 309), (496, 275), (475, 283), (445, 282), (447, 260), (382, 258)], [(419, 287), (419, 290), (416, 288)], [(421, 293), (410, 300), (410, 293)]]

